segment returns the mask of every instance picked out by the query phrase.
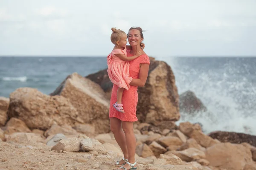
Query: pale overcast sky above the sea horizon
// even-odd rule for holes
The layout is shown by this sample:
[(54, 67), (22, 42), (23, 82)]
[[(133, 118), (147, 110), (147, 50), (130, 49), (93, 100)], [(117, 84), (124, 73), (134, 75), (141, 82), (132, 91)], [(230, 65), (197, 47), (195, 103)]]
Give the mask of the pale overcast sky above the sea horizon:
[(107, 56), (131, 26), (154, 57), (256, 56), (256, 0), (0, 0), (0, 56)]

